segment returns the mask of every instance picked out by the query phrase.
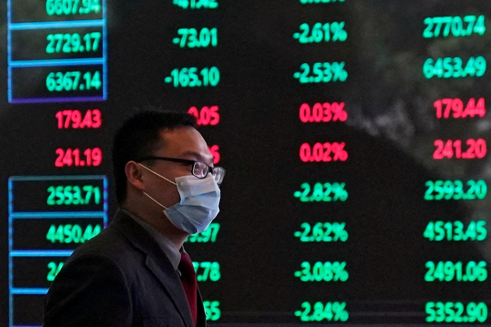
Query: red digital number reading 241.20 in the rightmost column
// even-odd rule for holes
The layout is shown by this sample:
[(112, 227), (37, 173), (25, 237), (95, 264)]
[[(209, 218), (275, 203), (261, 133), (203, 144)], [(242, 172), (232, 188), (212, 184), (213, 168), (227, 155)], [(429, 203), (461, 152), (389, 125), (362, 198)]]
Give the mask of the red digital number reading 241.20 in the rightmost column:
[(457, 159), (474, 159), (484, 158), (486, 156), (486, 141), (482, 138), (478, 140), (468, 139), (465, 144), (468, 148), (462, 151), (462, 140), (458, 139), (452, 141), (451, 139), (444, 142), (441, 139), (435, 141), (436, 150), (433, 153), (433, 158), (440, 160), (443, 158), (457, 158)]

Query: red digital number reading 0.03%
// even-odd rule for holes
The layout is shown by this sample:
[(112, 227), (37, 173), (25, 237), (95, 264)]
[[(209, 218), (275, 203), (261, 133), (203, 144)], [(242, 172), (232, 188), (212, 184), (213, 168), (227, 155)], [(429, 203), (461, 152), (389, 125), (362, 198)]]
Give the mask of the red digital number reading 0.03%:
[(312, 108), (306, 103), (300, 106), (300, 120), (302, 123), (319, 123), (329, 121), (346, 121), (348, 112), (344, 110), (344, 102), (316, 103)]

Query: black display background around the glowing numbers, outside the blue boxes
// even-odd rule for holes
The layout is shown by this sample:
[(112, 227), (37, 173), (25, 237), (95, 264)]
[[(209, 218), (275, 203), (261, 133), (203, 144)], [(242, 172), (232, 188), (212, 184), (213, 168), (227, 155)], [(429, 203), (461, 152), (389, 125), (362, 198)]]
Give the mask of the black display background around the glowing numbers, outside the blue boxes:
[[(425, 283), (428, 260), (489, 260), (489, 243), (430, 244), (422, 232), (430, 220), (488, 219), (489, 200), (423, 200), (424, 183), (438, 179), (491, 181), (482, 160), (432, 159), (438, 139), (490, 140), (489, 115), (438, 121), (433, 102), (441, 98), (487, 97), (490, 78), (426, 80), (428, 57), (483, 55), (491, 62), (490, 32), (466, 38), (423, 39), (426, 17), (484, 14), (485, 0), (346, 0), (302, 5), (298, 0), (225, 1), (217, 10), (182, 10), (171, 0), (108, 1), (109, 100), (65, 105), (8, 105), (6, 53), (0, 56), (0, 196), (7, 203), (9, 176), (106, 174), (110, 216), (116, 209), (110, 140), (135, 107), (185, 111), (219, 106), (220, 123), (200, 131), (220, 147), (227, 169), (221, 186), (221, 228), (216, 243), (187, 244), (194, 261), (218, 261), (221, 279), (200, 286), (205, 300), (220, 300), (227, 325), (294, 323), (304, 300), (347, 300), (351, 322), (423, 323), (430, 299), (483, 300), (491, 304), (489, 281)], [(5, 5), (0, 4), (2, 13)], [(5, 16), (2, 16), (5, 17)], [(300, 45), (292, 38), (301, 23), (345, 21), (345, 43)], [(180, 49), (179, 27), (218, 27), (218, 47)], [(2, 31), (6, 33), (6, 28)], [(5, 34), (6, 35), (6, 34)], [(5, 37), (3, 42), (5, 42)], [(2, 43), (3, 45), (5, 43)], [(3, 48), (5, 50), (5, 48)], [(345, 83), (300, 85), (300, 64), (345, 61)], [(216, 88), (174, 88), (164, 77), (176, 67), (217, 66)], [(346, 103), (346, 123), (302, 124), (302, 103)], [(99, 130), (58, 130), (60, 109), (101, 109)], [(299, 159), (303, 142), (346, 142), (345, 163)], [(60, 144), (103, 151), (100, 167), (55, 168)], [(308, 182), (346, 182), (345, 203), (303, 204), (293, 192)], [(0, 276), (7, 276), (7, 207), (0, 206)], [(346, 221), (346, 244), (301, 244), (300, 223)], [(302, 261), (346, 260), (346, 283), (302, 283), (293, 277)], [(4, 285), (6, 285), (7, 279)], [(0, 288), (6, 323), (7, 290)], [(3, 305), (5, 301), (5, 305)], [(3, 309), (5, 308), (5, 309)], [(4, 311), (3, 311), (4, 310)], [(421, 316), (356, 316), (362, 311), (419, 312)], [(259, 314), (257, 314), (259, 312)], [(0, 324), (3, 321), (0, 321)], [(219, 324), (218, 324), (219, 325)], [(217, 325), (217, 326), (218, 326)], [(2, 326), (6, 326), (2, 325)], [(227, 325), (229, 326), (229, 325)], [(286, 326), (286, 325), (285, 325)], [(312, 325), (313, 326), (313, 325)]]

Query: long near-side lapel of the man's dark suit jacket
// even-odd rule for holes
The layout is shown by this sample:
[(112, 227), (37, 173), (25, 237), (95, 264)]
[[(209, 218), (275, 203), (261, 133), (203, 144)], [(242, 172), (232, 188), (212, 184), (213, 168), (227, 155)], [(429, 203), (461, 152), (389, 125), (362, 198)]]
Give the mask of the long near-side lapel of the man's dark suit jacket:
[(186, 325), (194, 326), (191, 309), (179, 275), (154, 238), (121, 210), (118, 210), (110, 225), (122, 232), (136, 248), (146, 253), (145, 265), (161, 282)]

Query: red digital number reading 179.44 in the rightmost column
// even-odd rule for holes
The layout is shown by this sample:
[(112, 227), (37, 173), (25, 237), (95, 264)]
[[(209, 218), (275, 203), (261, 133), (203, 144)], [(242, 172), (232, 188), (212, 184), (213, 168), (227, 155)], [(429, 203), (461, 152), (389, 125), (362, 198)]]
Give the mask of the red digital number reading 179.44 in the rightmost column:
[(486, 114), (486, 103), (484, 98), (477, 100), (471, 98), (464, 109), (464, 102), (461, 99), (441, 99), (436, 100), (433, 106), (436, 109), (436, 118), (449, 118), (450, 113), (454, 118), (465, 117), (484, 117)]

